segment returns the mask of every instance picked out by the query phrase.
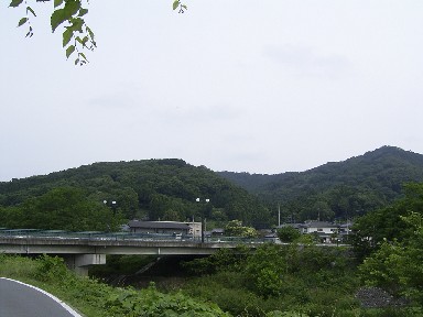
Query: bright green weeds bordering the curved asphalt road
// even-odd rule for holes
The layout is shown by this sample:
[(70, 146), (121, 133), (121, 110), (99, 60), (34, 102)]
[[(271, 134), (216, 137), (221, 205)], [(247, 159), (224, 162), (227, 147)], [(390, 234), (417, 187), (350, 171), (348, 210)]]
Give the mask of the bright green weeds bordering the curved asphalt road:
[(36, 260), (0, 254), (0, 276), (45, 289), (84, 316), (230, 316), (213, 303), (194, 300), (182, 293), (164, 294), (154, 285), (141, 291), (113, 288), (69, 272), (62, 259)]

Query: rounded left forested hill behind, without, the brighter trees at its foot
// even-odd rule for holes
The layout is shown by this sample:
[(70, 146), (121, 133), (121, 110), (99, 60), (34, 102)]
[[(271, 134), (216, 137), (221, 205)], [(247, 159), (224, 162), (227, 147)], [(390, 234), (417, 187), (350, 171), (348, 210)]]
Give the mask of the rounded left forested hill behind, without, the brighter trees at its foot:
[[(95, 163), (0, 183), (0, 209), (19, 208), (24, 201), (48, 195), (51, 190), (59, 194), (57, 188), (77, 188), (93, 204), (116, 200), (118, 211), (127, 219), (186, 220), (193, 216), (198, 219), (204, 214), (217, 222), (238, 219), (249, 226), (271, 225), (269, 211), (253, 195), (204, 166), (196, 167), (176, 158)], [(61, 195), (76, 194), (70, 190)], [(56, 199), (53, 196), (48, 199)]]

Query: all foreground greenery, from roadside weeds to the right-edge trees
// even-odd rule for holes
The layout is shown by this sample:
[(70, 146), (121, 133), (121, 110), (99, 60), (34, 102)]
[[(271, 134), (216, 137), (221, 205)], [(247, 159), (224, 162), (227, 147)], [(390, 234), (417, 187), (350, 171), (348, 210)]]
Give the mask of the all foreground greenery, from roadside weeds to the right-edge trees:
[[(403, 198), (356, 222), (358, 253), (295, 243), (224, 250), (187, 262), (192, 277), (167, 294), (79, 278), (50, 256), (0, 255), (0, 275), (44, 288), (86, 316), (422, 316), (422, 229), (423, 184), (411, 184)], [(392, 300), (371, 303), (375, 291)], [(362, 306), (359, 292), (370, 294), (370, 304)]]

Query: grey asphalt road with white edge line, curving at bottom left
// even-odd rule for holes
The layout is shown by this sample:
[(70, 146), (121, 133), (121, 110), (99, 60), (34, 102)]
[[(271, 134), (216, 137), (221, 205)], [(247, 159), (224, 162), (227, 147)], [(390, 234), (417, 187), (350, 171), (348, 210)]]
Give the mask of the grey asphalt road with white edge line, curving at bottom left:
[(82, 317), (44, 291), (0, 277), (0, 317)]

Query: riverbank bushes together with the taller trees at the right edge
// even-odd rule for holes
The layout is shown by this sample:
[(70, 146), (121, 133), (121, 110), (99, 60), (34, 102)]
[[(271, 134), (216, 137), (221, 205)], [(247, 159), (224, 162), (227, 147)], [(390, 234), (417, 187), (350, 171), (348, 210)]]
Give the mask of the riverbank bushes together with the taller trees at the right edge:
[(358, 219), (355, 237), (352, 249), (265, 244), (195, 260), (186, 266), (203, 277), (184, 292), (240, 316), (423, 316), (423, 184)]

